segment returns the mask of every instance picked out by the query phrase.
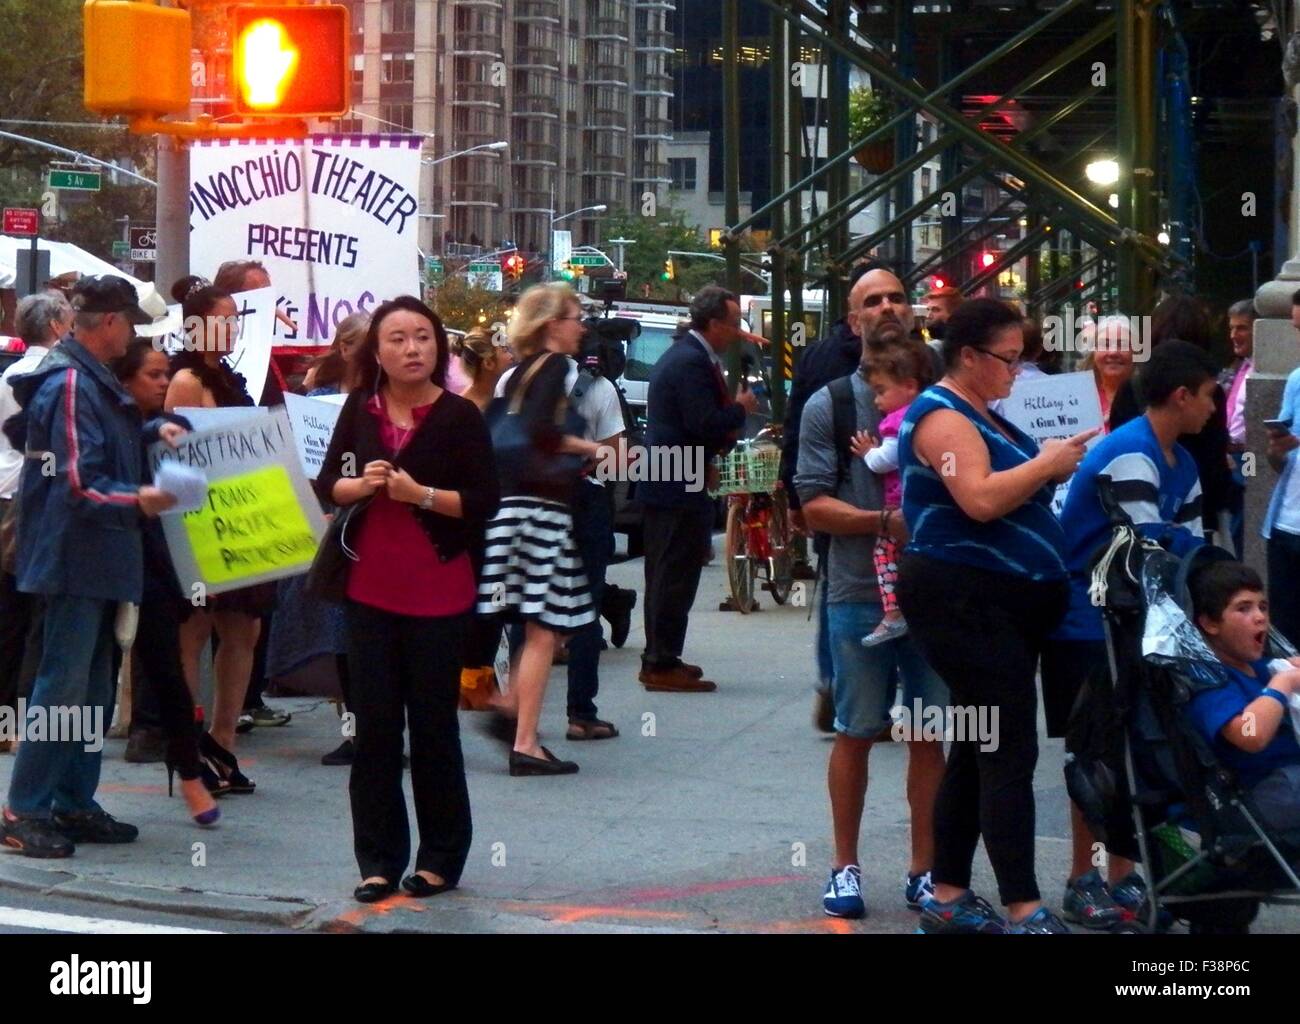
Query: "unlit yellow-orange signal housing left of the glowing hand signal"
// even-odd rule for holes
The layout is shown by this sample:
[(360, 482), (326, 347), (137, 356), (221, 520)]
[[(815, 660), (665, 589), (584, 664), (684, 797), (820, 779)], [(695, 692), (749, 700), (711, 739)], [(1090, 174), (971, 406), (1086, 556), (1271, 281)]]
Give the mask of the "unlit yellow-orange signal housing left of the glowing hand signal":
[(82, 8), (86, 109), (179, 113), (190, 107), (190, 14), (126, 0)]

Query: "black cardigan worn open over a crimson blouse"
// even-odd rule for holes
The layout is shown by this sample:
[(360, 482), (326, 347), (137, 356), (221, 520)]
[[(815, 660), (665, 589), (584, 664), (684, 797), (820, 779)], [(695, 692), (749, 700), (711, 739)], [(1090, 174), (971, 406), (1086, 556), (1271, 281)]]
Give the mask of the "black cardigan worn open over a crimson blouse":
[(334, 500), (334, 485), (344, 476), (344, 456), (351, 456), (346, 476), (352, 477), (361, 476), (367, 463), (384, 459), (410, 473), (416, 483), (460, 493), (464, 518), (407, 506), (442, 561), (481, 547), (484, 525), (495, 513), (500, 495), (491, 438), (478, 408), (469, 399), (443, 391), (394, 459), (380, 439), (378, 420), (365, 408), (372, 396), (372, 391), (360, 389), (347, 396), (315, 482), (316, 494), (324, 502)]

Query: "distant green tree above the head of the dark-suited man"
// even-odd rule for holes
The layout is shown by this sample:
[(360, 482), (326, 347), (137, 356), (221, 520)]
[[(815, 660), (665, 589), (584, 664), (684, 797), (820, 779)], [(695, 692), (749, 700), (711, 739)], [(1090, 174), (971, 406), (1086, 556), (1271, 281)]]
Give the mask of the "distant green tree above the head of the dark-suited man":
[[(708, 256), (673, 256), (675, 275), (663, 279), (663, 264), (670, 252), (708, 252), (708, 244), (686, 224), (681, 211), (662, 208), (658, 217), (638, 217), (627, 211), (616, 211), (604, 218), (602, 234), (606, 238), (628, 238), (634, 246), (624, 247), (623, 269), (628, 274), (628, 298), (640, 299), (645, 286), (650, 286), (650, 299), (679, 301), (694, 295), (705, 285), (725, 285), (727, 265)], [(742, 252), (755, 252), (758, 246), (746, 234), (741, 240)], [(718, 256), (722, 256), (719, 250)], [(759, 286), (757, 277), (745, 274), (746, 291)]]

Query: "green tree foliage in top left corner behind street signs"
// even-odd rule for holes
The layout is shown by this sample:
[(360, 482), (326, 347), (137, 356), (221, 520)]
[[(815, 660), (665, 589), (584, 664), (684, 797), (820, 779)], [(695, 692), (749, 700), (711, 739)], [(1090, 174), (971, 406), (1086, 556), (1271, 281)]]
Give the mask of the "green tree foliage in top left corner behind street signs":
[[(0, 0), (0, 110), (3, 127), (14, 134), (62, 146), (105, 161), (130, 161), (150, 175), (153, 165), (152, 138), (131, 135), (125, 125), (103, 122), (82, 105), (83, 40), (81, 0)], [(131, 55), (121, 55), (130, 60)], [(52, 160), (68, 160), (51, 149), (17, 139), (0, 138), (0, 166), (12, 172), (0, 185), (0, 200), (14, 205), (40, 205), (44, 173)], [(136, 224), (153, 222), (155, 192), (147, 185), (112, 186), (105, 172), (104, 190), (94, 201), (64, 205), (66, 221), (51, 225), (47, 234), (74, 242), (108, 259), (120, 227), (114, 217), (130, 216)]]

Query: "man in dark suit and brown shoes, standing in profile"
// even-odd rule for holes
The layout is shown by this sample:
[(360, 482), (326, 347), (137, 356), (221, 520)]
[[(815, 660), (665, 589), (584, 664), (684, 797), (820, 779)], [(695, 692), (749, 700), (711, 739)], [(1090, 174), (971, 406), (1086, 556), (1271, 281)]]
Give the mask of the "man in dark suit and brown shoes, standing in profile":
[[(690, 330), (650, 373), (646, 446), (651, 451), (676, 448), (682, 454), (680, 465), (698, 465), (698, 454), (693, 460), (689, 450), (702, 450), (707, 463), (740, 437), (757, 399), (742, 385), (732, 400), (720, 359), (738, 333), (737, 298), (716, 285), (702, 288), (690, 304)], [(698, 665), (681, 660), (712, 531), (714, 507), (702, 483), (677, 478), (638, 485), (645, 506), (646, 567), (646, 648), (638, 678), (647, 690), (718, 689)]]

